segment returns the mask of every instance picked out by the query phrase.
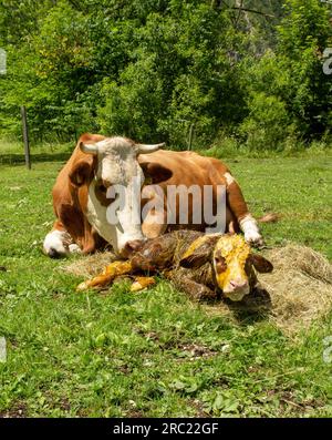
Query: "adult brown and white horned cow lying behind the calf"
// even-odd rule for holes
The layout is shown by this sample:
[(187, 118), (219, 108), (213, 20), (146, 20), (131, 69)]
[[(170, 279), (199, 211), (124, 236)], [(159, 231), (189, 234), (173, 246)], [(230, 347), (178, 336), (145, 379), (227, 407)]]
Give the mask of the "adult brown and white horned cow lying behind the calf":
[[(133, 177), (144, 190), (142, 207), (163, 194), (167, 206), (167, 188), (193, 185), (204, 190), (212, 187), (212, 205), (217, 205), (218, 185), (226, 188), (225, 231), (241, 229), (248, 243), (260, 245), (256, 219), (248, 211), (241, 190), (228, 167), (219, 160), (204, 157), (194, 152), (173, 152), (159, 150), (164, 144), (137, 144), (126, 137), (105, 137), (84, 134), (60, 171), (53, 187), (53, 207), (56, 216), (53, 229), (46, 235), (43, 248), (50, 257), (68, 255), (71, 252), (92, 253), (106, 243), (114, 250), (126, 256), (145, 237), (153, 238), (164, 232), (177, 228), (205, 231), (204, 223), (195, 224), (196, 202), (203, 206), (204, 199), (190, 194), (188, 221), (179, 224), (179, 209), (176, 207), (174, 224), (167, 224), (166, 207), (163, 212), (155, 208), (146, 211), (143, 222), (131, 222), (133, 212), (141, 209), (133, 197)], [(116, 212), (117, 222), (110, 224), (107, 208), (115, 203), (110, 198), (110, 188), (122, 185), (124, 206)], [(158, 185), (159, 192), (155, 188)], [(204, 194), (204, 191), (201, 192)], [(138, 194), (139, 197), (139, 194)], [(180, 197), (176, 197), (179, 204)], [(148, 205), (147, 205), (148, 206)], [(136, 213), (141, 218), (141, 212)], [(156, 222), (158, 218), (158, 222)]]

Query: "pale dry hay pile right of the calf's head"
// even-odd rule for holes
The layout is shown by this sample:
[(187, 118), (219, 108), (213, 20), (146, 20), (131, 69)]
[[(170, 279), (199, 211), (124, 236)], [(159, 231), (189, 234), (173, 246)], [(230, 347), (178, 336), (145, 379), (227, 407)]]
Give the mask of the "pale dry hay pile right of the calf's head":
[(332, 307), (332, 265), (313, 249), (289, 244), (264, 253), (272, 262), (271, 274), (259, 274), (271, 297), (271, 319), (293, 332), (309, 327)]

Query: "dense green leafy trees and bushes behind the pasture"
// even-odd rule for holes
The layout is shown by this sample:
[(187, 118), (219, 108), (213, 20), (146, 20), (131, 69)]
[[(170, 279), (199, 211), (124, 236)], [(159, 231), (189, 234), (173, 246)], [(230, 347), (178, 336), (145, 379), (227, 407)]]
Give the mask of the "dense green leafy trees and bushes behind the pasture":
[[(0, 135), (85, 131), (174, 147), (258, 151), (329, 139), (332, 44), (319, 0), (8, 0), (0, 4)], [(250, 10), (250, 11), (248, 11)], [(261, 13), (255, 13), (255, 10)], [(253, 12), (252, 12), (253, 11)], [(17, 25), (13, 28), (12, 22)]]

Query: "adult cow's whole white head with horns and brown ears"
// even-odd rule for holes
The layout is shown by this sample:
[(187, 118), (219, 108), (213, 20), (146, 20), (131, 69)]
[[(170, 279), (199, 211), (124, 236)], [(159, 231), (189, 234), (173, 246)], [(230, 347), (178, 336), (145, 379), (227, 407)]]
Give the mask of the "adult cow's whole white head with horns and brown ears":
[[(163, 146), (164, 144), (137, 144), (126, 137), (106, 137), (96, 143), (79, 143), (79, 149), (84, 155), (73, 166), (70, 180), (76, 186), (87, 183), (87, 219), (120, 255), (127, 256), (144, 239), (138, 199), (145, 181), (145, 170), (139, 165), (137, 156), (153, 153)], [(159, 181), (168, 178), (172, 174), (158, 164), (149, 166), (151, 170), (158, 173)], [(154, 182), (157, 183), (156, 180)], [(122, 192), (114, 194), (112, 190), (120, 186)], [(121, 208), (116, 211), (116, 221), (111, 222), (107, 208), (120, 196)], [(113, 207), (115, 206), (114, 204)], [(133, 222), (134, 218), (138, 222)]]

